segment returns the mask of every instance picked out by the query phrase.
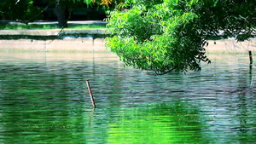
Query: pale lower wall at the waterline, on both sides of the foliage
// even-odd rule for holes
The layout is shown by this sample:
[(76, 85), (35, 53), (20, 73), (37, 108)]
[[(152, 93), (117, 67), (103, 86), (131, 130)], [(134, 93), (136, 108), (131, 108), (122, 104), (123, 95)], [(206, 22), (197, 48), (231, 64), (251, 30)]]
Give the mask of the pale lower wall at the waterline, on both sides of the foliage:
[[(242, 54), (247, 51), (256, 52), (256, 38), (250, 38), (244, 42), (236, 39), (208, 40), (205, 48), (207, 53), (214, 54)], [(105, 48), (104, 37), (64, 37), (54, 40), (37, 39), (1, 39), (0, 51), (24, 51), (24, 52), (108, 52)]]

